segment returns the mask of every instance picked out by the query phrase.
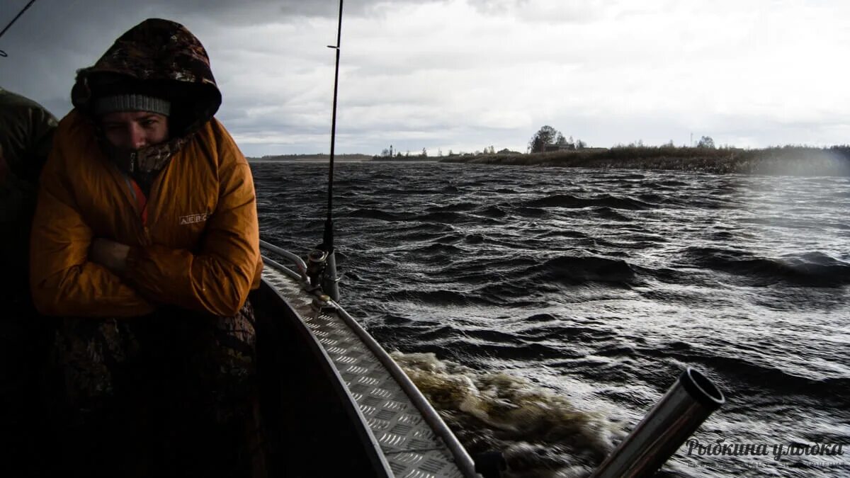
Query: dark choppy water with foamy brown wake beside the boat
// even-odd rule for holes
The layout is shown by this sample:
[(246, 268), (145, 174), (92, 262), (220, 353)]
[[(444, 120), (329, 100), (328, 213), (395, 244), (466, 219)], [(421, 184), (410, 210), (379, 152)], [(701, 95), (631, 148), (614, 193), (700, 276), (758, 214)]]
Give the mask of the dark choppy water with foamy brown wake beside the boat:
[[(326, 166), (252, 168), (306, 252)], [(694, 438), (769, 454), (662, 475), (850, 475), (850, 179), (343, 163), (335, 193), (343, 304), (513, 476), (587, 475), (687, 366), (728, 399)], [(813, 443), (843, 454), (773, 456)]]

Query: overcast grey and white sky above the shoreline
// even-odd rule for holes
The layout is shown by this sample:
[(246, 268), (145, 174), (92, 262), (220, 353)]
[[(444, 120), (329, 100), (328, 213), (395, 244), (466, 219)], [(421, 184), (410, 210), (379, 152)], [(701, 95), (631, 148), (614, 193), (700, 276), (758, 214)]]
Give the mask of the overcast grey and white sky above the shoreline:
[[(27, 0), (0, 0), (5, 26)], [(246, 156), (330, 149), (334, 0), (37, 0), (0, 86), (64, 116), (78, 68), (149, 17), (207, 48)], [(348, 0), (337, 152), (850, 143), (847, 0)]]

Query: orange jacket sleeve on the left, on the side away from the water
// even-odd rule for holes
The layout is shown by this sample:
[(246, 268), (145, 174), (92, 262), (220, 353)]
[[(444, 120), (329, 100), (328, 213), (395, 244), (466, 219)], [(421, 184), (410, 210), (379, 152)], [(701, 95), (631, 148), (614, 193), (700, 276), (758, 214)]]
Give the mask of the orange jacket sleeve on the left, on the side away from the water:
[(76, 208), (61, 145), (40, 179), (30, 238), (30, 285), (48, 316), (141, 316), (154, 310), (105, 267), (88, 260), (92, 230)]

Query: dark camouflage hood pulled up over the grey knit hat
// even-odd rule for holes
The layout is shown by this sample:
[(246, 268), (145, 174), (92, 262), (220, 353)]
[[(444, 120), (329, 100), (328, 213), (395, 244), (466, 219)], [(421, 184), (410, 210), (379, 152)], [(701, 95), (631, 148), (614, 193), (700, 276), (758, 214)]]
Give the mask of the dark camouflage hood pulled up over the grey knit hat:
[(133, 26), (97, 62), (77, 71), (71, 103), (88, 116), (111, 94), (151, 94), (172, 104), (172, 137), (194, 133), (221, 105), (207, 50), (186, 27), (162, 19)]

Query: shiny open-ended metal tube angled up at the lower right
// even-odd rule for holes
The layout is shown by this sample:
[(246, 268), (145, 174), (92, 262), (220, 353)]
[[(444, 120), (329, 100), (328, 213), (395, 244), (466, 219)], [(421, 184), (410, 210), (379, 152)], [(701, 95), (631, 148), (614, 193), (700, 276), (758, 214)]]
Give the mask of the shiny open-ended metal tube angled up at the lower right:
[(725, 402), (723, 392), (711, 380), (688, 367), (591, 478), (654, 474)]

